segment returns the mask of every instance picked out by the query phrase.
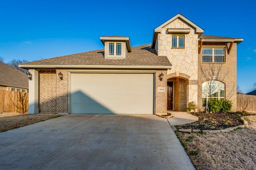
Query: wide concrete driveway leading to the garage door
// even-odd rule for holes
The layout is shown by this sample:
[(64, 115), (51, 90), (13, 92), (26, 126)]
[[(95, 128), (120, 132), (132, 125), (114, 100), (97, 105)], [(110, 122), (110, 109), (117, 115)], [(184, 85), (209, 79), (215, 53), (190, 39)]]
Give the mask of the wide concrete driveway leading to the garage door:
[(194, 169), (156, 115), (66, 115), (0, 133), (0, 169)]

